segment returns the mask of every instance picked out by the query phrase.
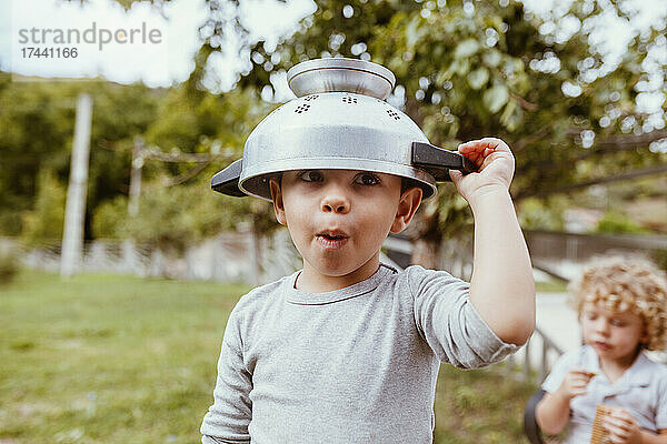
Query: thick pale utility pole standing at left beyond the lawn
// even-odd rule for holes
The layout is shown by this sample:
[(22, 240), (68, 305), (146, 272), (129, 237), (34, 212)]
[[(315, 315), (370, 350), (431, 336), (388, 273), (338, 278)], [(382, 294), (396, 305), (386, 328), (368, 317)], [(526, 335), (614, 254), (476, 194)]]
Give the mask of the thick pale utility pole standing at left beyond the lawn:
[(77, 122), (64, 208), (62, 253), (60, 255), (60, 275), (62, 278), (71, 276), (81, 264), (91, 117), (92, 99), (87, 93), (81, 93), (77, 101)]

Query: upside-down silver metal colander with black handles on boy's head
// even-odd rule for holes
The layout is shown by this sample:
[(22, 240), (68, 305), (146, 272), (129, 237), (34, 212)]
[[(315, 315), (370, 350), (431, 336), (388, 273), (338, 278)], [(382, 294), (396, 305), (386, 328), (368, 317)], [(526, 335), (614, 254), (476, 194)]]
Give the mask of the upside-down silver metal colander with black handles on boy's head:
[(271, 199), (269, 179), (290, 170), (364, 170), (409, 179), (434, 195), (448, 170), (476, 167), (434, 147), (419, 127), (385, 101), (396, 78), (364, 60), (329, 58), (301, 62), (287, 72), (297, 99), (252, 130), (243, 158), (217, 173), (215, 191)]

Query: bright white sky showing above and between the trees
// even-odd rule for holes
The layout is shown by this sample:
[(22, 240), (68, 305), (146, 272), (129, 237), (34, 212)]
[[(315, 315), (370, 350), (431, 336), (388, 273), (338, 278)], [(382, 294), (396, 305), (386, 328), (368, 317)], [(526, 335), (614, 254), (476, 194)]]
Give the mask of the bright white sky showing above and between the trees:
[[(567, 10), (570, 1), (525, 0), (524, 3), (534, 13), (549, 17)], [(46, 78), (99, 75), (119, 83), (142, 80), (149, 87), (182, 82), (192, 71), (192, 56), (201, 46), (198, 29), (206, 22), (206, 2), (172, 0), (161, 3), (156, 0), (156, 3), (136, 2), (126, 12), (113, 0), (88, 0), (83, 6), (79, 1), (63, 0), (1, 0), (0, 70)], [(251, 36), (256, 40), (266, 39), (268, 46), (293, 32), (298, 21), (316, 9), (312, 0), (283, 3), (241, 0), (240, 4), (241, 17)], [(628, 0), (626, 4), (637, 10), (635, 19), (640, 27), (649, 26), (659, 12), (667, 10), (667, 1)], [(547, 20), (540, 31), (554, 32), (556, 39), (565, 39), (570, 31), (568, 22), (564, 23), (561, 28), (555, 28)], [(626, 24), (618, 18), (603, 17), (596, 27), (599, 29), (596, 43), (609, 53), (609, 67), (621, 57), (630, 37)], [(61, 40), (57, 41), (57, 38)], [(230, 36), (222, 46), (231, 54), (235, 43)], [(51, 52), (37, 57), (31, 48)], [(77, 50), (76, 57), (72, 48)], [(66, 49), (70, 51), (66, 53)], [(667, 58), (667, 50), (665, 54)], [(232, 88), (238, 73), (249, 68), (248, 63), (231, 56), (216, 54), (212, 65), (218, 80), (207, 87), (211, 91)]]

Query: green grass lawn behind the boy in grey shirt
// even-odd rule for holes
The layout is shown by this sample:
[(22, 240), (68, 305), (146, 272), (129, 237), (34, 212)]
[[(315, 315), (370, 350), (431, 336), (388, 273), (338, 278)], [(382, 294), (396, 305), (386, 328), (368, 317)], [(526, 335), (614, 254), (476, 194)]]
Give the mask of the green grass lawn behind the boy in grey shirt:
[[(198, 443), (242, 285), (23, 272), (0, 287), (0, 444)], [(442, 366), (436, 443), (519, 443), (534, 386)]]

